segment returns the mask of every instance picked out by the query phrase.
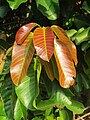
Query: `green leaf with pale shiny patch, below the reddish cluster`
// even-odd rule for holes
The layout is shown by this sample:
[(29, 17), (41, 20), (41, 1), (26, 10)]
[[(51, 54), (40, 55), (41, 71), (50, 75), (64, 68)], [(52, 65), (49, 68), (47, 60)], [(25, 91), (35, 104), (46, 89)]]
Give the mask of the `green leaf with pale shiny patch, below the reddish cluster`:
[(61, 107), (63, 105), (66, 106), (67, 104), (72, 104), (70, 96), (67, 96), (63, 89), (60, 88), (60, 86), (57, 84), (57, 82), (53, 81), (53, 90), (51, 98), (48, 100), (41, 100), (39, 103), (37, 103), (37, 109), (45, 110), (58, 105), (60, 105)]

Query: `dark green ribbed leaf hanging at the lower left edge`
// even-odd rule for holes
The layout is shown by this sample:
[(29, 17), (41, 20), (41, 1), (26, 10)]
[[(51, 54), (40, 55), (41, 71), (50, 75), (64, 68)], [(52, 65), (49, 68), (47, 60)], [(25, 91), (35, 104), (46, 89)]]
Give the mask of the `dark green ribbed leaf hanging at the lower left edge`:
[(13, 119), (15, 95), (11, 78), (8, 75), (6, 75), (4, 83), (1, 86), (1, 96), (4, 102), (5, 113), (8, 119)]

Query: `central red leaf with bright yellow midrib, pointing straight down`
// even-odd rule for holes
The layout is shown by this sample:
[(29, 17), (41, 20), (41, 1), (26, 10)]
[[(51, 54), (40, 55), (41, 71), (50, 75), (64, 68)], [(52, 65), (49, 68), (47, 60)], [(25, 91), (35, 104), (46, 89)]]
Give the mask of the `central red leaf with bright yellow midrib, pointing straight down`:
[(54, 33), (50, 27), (38, 27), (34, 31), (34, 47), (40, 58), (50, 60), (54, 52)]

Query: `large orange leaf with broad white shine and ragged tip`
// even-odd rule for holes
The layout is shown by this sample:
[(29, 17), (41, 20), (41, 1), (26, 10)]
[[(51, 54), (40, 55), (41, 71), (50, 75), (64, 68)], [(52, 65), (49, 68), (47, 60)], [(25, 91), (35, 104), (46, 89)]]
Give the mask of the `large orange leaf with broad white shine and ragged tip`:
[(63, 88), (68, 88), (74, 84), (74, 77), (76, 76), (74, 62), (69, 48), (64, 41), (55, 40), (54, 45), (54, 55), (59, 71), (59, 82)]

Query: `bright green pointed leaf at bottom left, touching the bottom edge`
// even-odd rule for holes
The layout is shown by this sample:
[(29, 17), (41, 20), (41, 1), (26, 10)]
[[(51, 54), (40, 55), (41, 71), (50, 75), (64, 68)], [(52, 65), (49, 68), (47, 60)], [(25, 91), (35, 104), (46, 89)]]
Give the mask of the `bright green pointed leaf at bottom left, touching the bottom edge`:
[(14, 119), (15, 120), (21, 120), (26, 119), (26, 112), (27, 109), (26, 107), (17, 99), (15, 109), (14, 109)]

